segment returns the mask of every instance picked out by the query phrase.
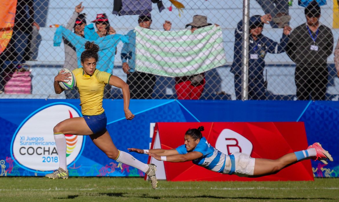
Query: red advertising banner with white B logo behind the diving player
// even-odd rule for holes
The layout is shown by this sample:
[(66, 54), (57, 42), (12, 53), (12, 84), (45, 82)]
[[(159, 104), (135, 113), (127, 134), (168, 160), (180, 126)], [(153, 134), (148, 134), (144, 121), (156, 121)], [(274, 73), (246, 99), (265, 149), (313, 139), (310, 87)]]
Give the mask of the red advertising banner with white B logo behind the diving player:
[[(184, 144), (185, 132), (204, 126), (202, 135), (211, 146), (229, 155), (242, 152), (254, 158), (277, 159), (307, 148), (303, 122), (201, 122), (156, 123), (152, 149), (173, 149)], [(207, 170), (189, 162), (167, 162), (149, 158), (157, 165), (158, 179), (168, 181), (276, 181), (314, 180), (311, 160), (297, 162), (276, 174), (248, 178)]]

